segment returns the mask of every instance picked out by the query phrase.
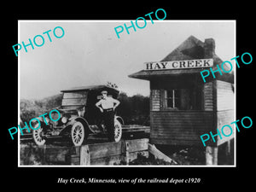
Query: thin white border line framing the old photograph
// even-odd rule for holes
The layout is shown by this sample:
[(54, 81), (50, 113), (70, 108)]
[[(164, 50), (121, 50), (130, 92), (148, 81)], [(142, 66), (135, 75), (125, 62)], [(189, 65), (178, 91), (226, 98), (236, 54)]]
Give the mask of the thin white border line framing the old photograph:
[[(18, 42), (20, 42), (20, 22), (124, 22), (131, 20), (18, 20)], [(142, 20), (138, 20), (139, 22)], [(154, 20), (154, 22), (233, 22), (235, 25), (235, 46), (234, 53), (236, 56), (236, 20)], [(235, 119), (236, 120), (236, 67), (234, 70), (234, 88), (235, 88)], [(20, 55), (18, 53), (18, 123), (20, 124)], [(236, 131), (234, 134), (234, 165), (220, 165), (220, 166), (207, 166), (207, 165), (198, 165), (198, 166), (58, 166), (58, 165), (45, 165), (45, 166), (26, 166), (20, 165), (20, 130), (18, 131), (18, 167), (236, 167)]]

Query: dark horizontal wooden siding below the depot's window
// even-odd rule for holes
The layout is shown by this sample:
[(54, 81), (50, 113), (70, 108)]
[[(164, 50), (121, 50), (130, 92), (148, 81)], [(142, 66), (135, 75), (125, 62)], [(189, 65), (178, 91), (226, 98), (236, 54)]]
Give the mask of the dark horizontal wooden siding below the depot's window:
[(201, 134), (212, 131), (212, 112), (151, 111), (150, 141), (154, 144), (201, 145)]

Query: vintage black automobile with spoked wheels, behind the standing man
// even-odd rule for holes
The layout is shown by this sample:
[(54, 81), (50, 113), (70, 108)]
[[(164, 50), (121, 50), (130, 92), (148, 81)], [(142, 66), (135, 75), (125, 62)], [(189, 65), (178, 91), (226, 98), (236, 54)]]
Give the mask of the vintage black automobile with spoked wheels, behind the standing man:
[[(96, 102), (101, 98), (101, 91), (108, 90), (108, 96), (117, 98), (119, 90), (108, 85), (94, 85), (61, 90), (61, 106), (57, 112), (49, 116), (38, 117), (40, 128), (33, 130), (32, 137), (36, 144), (44, 145), (49, 137), (67, 137), (74, 146), (82, 145), (90, 133), (107, 133), (102, 120), (101, 111), (96, 108)], [(61, 117), (60, 117), (61, 114)], [(48, 114), (49, 115), (49, 114)], [(60, 118), (60, 119), (59, 119)], [(53, 121), (59, 119), (58, 121)], [(114, 116), (114, 141), (122, 137), (124, 121)], [(38, 123), (34, 127), (38, 126)]]

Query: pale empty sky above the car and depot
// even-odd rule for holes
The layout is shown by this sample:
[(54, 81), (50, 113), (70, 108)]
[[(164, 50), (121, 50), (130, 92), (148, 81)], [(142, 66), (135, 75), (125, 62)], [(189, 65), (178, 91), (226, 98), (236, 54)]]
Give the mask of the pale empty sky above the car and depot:
[[(114, 27), (124, 23), (129, 26), (131, 20), (19, 20), (19, 44), (44, 37), (43, 46), (27, 46), (27, 52), (22, 47), (18, 53), (20, 98), (42, 99), (60, 90), (107, 82), (128, 96), (149, 96), (149, 82), (128, 75), (142, 70), (144, 62), (162, 60), (190, 35), (202, 42), (214, 38), (215, 53), (223, 61), (236, 56), (234, 21), (147, 20), (143, 29), (131, 28), (130, 34), (124, 30), (118, 38)], [(62, 38), (53, 34), (56, 26), (64, 29)], [(43, 34), (49, 30), (52, 42)], [(55, 32), (61, 35), (61, 30)], [(36, 42), (42, 43), (40, 38)]]

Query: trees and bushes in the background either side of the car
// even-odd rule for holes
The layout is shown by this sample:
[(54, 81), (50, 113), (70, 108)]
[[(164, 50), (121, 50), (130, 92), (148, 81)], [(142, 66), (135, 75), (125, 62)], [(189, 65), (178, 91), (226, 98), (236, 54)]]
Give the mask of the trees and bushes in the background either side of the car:
[[(41, 100), (20, 100), (20, 119), (29, 122), (41, 114), (49, 113), (53, 108), (61, 106), (62, 95), (49, 96)], [(117, 115), (125, 120), (125, 125), (149, 125), (149, 97), (142, 95), (127, 96), (120, 92)]]

